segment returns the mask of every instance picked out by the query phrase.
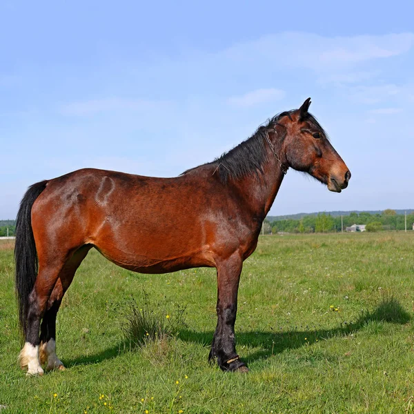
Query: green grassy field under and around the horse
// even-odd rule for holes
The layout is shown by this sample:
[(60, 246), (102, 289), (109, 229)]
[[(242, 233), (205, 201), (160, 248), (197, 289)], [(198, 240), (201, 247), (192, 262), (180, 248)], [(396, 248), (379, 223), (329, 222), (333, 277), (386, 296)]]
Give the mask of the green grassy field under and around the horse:
[[(0, 245), (0, 413), (413, 413), (414, 232), (268, 236), (244, 266), (237, 351), (248, 375), (207, 362), (213, 269), (139, 275), (91, 251), (58, 315), (65, 372), (26, 377), (10, 242)], [(133, 349), (131, 294), (177, 337)]]

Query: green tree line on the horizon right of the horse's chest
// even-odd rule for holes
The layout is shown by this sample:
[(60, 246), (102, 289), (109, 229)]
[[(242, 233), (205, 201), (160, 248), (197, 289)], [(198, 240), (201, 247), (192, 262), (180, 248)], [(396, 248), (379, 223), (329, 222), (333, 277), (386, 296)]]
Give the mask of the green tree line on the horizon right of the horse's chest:
[[(367, 231), (404, 230), (404, 215), (395, 210), (384, 210), (382, 213), (350, 213), (342, 216), (344, 231), (353, 224), (366, 224)], [(414, 214), (407, 215), (407, 230), (412, 230)], [(264, 234), (286, 233), (335, 233), (341, 231), (341, 217), (333, 217), (326, 213), (307, 215), (301, 219), (281, 219), (268, 221), (265, 219), (262, 228)]]

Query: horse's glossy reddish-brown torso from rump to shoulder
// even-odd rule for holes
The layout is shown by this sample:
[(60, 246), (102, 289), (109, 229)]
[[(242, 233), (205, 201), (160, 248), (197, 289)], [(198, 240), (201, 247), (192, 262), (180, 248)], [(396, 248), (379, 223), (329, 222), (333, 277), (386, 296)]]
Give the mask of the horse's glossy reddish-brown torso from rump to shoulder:
[(35, 202), (35, 239), (69, 249), (92, 244), (138, 271), (213, 265), (217, 217), (210, 206), (219, 194), (206, 177), (202, 171), (174, 178), (71, 172), (48, 181)]

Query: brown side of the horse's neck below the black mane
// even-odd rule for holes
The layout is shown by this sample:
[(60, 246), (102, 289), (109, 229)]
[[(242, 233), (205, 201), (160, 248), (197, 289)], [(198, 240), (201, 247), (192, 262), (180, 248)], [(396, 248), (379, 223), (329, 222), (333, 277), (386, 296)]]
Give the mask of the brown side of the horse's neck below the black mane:
[(264, 165), (263, 172), (263, 175), (260, 172), (257, 175), (248, 175), (237, 183), (248, 209), (253, 215), (262, 219), (273, 205), (284, 178), (282, 166), (273, 154), (269, 157), (269, 162)]

